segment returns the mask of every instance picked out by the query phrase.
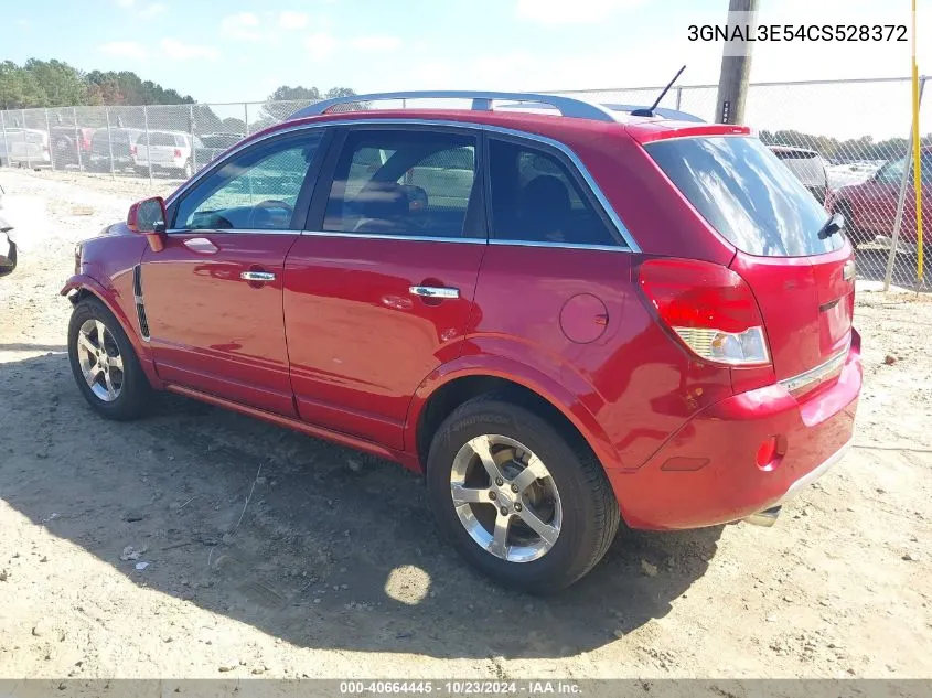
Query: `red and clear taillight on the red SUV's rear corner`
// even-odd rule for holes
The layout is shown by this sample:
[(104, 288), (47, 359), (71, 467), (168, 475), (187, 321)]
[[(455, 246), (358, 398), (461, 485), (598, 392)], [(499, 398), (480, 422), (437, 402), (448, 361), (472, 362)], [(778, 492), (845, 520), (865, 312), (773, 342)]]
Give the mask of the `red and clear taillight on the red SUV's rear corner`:
[(693, 259), (650, 259), (639, 284), (661, 321), (689, 351), (728, 366), (770, 363), (754, 294), (727, 267)]

